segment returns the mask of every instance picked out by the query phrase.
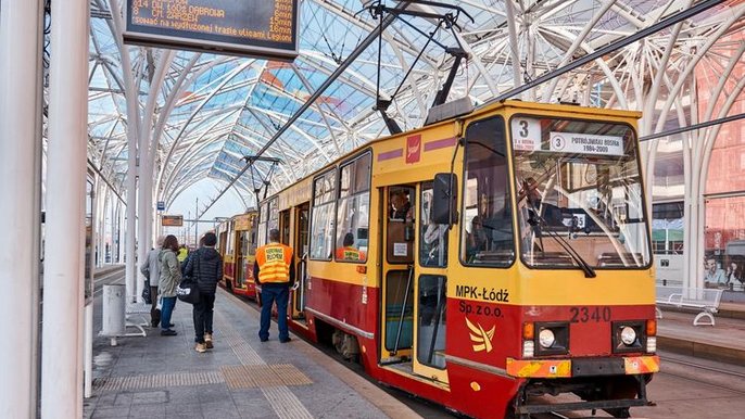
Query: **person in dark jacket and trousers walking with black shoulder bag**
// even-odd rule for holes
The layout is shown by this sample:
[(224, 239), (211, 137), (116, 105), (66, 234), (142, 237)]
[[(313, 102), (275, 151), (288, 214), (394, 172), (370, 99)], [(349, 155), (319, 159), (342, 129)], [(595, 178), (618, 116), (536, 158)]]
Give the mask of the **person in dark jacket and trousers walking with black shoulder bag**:
[(198, 249), (186, 266), (186, 276), (197, 282), (201, 295), (199, 303), (194, 304), (194, 342), (197, 352), (206, 352), (213, 347), (212, 342), (212, 317), (215, 307), (215, 291), (217, 282), (223, 278), (223, 258), (215, 250), (217, 237), (214, 232), (207, 232), (203, 238), (204, 245)]

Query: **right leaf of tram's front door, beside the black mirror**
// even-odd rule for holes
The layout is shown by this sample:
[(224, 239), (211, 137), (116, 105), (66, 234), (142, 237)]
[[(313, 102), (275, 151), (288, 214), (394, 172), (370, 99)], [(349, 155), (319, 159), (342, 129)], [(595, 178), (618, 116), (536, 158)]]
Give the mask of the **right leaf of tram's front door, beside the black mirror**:
[(447, 225), (431, 220), (432, 182), (420, 183), (418, 190), (413, 371), (447, 383), (445, 307), (450, 230)]

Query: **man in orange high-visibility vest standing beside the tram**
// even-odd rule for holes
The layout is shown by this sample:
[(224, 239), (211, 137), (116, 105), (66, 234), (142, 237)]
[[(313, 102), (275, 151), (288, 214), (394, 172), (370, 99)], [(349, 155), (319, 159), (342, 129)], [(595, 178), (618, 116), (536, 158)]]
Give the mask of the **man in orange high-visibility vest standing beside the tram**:
[(292, 247), (279, 242), (279, 230), (269, 231), (269, 243), (256, 250), (253, 264), (253, 278), (262, 287), (262, 316), (258, 339), (269, 340), (272, 305), (277, 302), (277, 325), (279, 342), (290, 342), (287, 330), (287, 302), (290, 287), (294, 283), (295, 272), (292, 262)]

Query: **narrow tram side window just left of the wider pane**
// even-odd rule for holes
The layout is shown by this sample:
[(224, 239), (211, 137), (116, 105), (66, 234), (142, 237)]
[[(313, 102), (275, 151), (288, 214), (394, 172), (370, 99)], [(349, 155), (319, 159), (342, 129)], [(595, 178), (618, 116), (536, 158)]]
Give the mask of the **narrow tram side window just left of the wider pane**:
[(311, 258), (329, 261), (333, 251), (337, 172), (330, 170), (313, 181), (311, 213)]

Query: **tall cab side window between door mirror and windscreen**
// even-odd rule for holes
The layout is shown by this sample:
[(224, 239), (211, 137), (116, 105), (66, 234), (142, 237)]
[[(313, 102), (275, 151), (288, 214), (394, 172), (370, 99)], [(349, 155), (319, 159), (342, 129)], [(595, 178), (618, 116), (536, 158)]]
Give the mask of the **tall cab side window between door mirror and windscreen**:
[(471, 124), (466, 131), (464, 223), (466, 265), (509, 266), (515, 261), (504, 119)]

